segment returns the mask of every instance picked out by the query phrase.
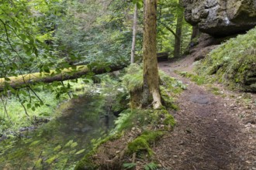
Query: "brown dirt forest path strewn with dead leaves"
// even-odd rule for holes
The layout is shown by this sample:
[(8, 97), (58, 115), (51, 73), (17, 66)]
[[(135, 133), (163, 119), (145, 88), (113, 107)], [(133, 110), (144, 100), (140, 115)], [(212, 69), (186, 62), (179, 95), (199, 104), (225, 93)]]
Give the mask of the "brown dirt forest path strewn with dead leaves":
[[(170, 76), (188, 85), (178, 98), (177, 125), (154, 148), (164, 169), (256, 170), (256, 97), (222, 90), (215, 95), (174, 70), (192, 71), (193, 59), (159, 63)], [(255, 103), (254, 103), (255, 102)]]

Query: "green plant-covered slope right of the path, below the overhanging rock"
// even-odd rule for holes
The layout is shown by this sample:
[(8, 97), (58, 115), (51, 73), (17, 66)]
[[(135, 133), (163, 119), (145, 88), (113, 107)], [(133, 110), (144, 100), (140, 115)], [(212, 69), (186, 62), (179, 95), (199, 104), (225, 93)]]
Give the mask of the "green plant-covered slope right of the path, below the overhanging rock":
[(199, 75), (214, 75), (214, 80), (230, 87), (255, 91), (255, 35), (256, 29), (251, 29), (218, 46), (199, 64)]

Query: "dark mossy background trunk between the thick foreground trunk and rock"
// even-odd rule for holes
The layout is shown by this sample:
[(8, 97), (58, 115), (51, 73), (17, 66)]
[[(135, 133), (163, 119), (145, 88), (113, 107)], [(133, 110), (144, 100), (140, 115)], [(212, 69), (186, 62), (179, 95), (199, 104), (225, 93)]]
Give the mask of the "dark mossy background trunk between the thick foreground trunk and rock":
[[(178, 1), (178, 5), (182, 6), (182, 0)], [(180, 9), (178, 9), (180, 10)], [(177, 25), (176, 25), (176, 36), (175, 36), (175, 57), (181, 56), (181, 47), (182, 47), (182, 22), (184, 14), (183, 12), (177, 12)]]

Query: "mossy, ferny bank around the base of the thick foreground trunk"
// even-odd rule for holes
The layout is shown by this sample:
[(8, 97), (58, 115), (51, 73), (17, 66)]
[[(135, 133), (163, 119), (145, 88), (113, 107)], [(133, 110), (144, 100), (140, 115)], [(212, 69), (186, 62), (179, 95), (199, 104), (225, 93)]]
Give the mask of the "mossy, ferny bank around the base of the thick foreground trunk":
[[(175, 97), (186, 86), (181, 82), (160, 72), (161, 79), (161, 96), (164, 107), (159, 110), (147, 109), (127, 109), (123, 110), (116, 118), (116, 128), (106, 138), (99, 139), (95, 142), (95, 148), (78, 163), (75, 169), (98, 169), (99, 165), (94, 164), (94, 155), (100, 155), (98, 148), (112, 140), (118, 140), (131, 131), (140, 131), (135, 138), (128, 142), (125, 155), (130, 157), (134, 153), (137, 157), (143, 159), (146, 156), (149, 160), (154, 155), (151, 145), (157, 141), (166, 132), (171, 131), (175, 126), (175, 119), (168, 110), (177, 110)], [(143, 88), (142, 66), (133, 64), (126, 69), (126, 74), (121, 78), (127, 91), (137, 91)], [(124, 142), (124, 141), (123, 141)], [(125, 145), (125, 144), (124, 144)], [(154, 160), (151, 160), (154, 161)], [(123, 168), (136, 166), (132, 162), (123, 162)], [(154, 169), (157, 165), (154, 162), (144, 165), (145, 169)], [(111, 169), (111, 168), (109, 168)]]

